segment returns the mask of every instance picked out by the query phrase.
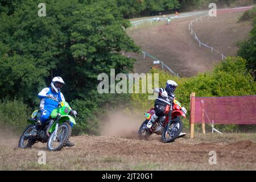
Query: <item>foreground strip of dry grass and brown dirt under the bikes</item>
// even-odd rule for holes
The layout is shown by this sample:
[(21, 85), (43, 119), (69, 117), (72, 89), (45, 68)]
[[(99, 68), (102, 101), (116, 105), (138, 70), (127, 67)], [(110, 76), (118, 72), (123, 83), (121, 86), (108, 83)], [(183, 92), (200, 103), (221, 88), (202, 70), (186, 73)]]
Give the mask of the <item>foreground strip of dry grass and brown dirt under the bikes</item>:
[[(38, 152), (45, 151), (46, 144), (38, 143), (31, 150), (20, 150), (16, 148), (18, 139), (8, 139), (0, 147), (0, 169), (256, 169), (255, 134), (197, 135), (193, 140), (185, 137), (174, 143), (162, 143), (156, 135), (147, 141), (133, 137), (72, 137), (74, 147), (46, 152), (46, 165), (38, 164)], [(216, 151), (216, 165), (208, 163), (210, 151)]]

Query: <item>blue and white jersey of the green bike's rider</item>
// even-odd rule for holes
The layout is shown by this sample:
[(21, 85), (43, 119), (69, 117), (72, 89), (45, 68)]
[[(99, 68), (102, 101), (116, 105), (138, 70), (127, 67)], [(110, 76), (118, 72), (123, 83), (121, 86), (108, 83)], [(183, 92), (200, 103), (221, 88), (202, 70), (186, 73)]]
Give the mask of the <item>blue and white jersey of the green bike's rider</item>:
[(53, 101), (51, 98), (47, 98), (47, 95), (52, 94), (52, 96), (58, 101), (65, 101), (65, 98), (61, 92), (54, 92), (51, 87), (44, 88), (39, 92), (38, 97), (41, 99), (40, 110), (47, 109), (53, 110), (58, 106), (58, 102)]

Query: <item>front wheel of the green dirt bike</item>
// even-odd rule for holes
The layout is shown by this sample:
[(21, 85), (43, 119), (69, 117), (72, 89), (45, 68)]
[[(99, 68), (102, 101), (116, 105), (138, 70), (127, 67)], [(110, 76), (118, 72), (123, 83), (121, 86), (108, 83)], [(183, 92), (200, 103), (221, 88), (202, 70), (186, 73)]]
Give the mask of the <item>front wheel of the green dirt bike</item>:
[(57, 130), (56, 139), (53, 140), (55, 137), (55, 131), (53, 131), (53, 133), (51, 133), (50, 137), (48, 138), (47, 149), (49, 151), (61, 150), (63, 147), (66, 146), (66, 143), (68, 142), (69, 137), (71, 137), (71, 133), (72, 133), (71, 126), (66, 122), (61, 123)]

